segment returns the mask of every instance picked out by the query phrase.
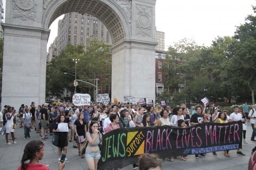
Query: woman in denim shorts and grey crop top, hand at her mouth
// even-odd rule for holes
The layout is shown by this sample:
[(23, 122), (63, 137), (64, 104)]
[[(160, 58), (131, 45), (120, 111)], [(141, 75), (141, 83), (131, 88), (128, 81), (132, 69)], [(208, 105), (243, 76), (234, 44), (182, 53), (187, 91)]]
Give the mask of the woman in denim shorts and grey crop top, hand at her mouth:
[(90, 170), (96, 170), (98, 161), (101, 157), (98, 145), (102, 141), (102, 134), (98, 131), (98, 122), (91, 121), (89, 131), (86, 133), (88, 145), (85, 151), (85, 159)]

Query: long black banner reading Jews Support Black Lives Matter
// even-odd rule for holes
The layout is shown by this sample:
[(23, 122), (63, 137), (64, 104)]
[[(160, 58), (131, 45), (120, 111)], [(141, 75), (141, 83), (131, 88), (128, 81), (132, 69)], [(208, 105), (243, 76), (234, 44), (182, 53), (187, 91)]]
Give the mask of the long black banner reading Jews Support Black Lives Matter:
[(202, 123), (187, 128), (133, 127), (112, 130), (103, 136), (99, 170), (122, 168), (143, 153), (160, 158), (201, 154), (242, 147), (242, 122)]

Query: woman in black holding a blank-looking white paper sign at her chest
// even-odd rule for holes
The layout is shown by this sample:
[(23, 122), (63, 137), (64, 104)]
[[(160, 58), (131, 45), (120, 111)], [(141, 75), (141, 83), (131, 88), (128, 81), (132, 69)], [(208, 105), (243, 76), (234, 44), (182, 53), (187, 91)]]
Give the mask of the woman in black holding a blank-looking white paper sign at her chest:
[[(58, 163), (60, 162), (61, 157), (61, 148), (64, 149), (64, 154), (68, 153), (68, 123), (66, 123), (65, 115), (60, 115), (60, 118), (57, 121), (55, 127), (53, 127), (53, 132), (59, 134), (58, 141)], [(69, 163), (67, 157), (65, 158), (65, 163)]]

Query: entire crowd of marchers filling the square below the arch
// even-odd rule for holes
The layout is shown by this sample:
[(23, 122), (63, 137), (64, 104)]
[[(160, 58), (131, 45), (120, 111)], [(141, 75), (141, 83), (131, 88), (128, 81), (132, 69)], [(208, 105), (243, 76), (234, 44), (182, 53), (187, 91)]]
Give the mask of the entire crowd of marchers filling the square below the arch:
[[(90, 170), (97, 169), (98, 160), (100, 159), (100, 143), (102, 141), (102, 135), (108, 133), (111, 130), (118, 128), (128, 127), (150, 127), (150, 126), (176, 126), (186, 128), (188, 126), (201, 124), (203, 122), (216, 122), (227, 123), (233, 121), (242, 121), (243, 123), (243, 139), (244, 144), (248, 142), (245, 139), (246, 124), (250, 119), (252, 125), (252, 137), (251, 141), (255, 140), (256, 135), (256, 105), (251, 111), (247, 110), (247, 113), (238, 106), (233, 107), (233, 113), (230, 115), (226, 110), (221, 110), (220, 107), (212, 105), (212, 109), (206, 110), (206, 105), (196, 105), (192, 109), (192, 116), (185, 104), (171, 108), (169, 106), (162, 107), (161, 105), (154, 106), (140, 106), (130, 103), (121, 104), (91, 104), (85, 106), (75, 106), (72, 103), (66, 103), (64, 105), (49, 105), (45, 103), (43, 105), (35, 106), (32, 102), (30, 106), (21, 105), (18, 114), (11, 106), (4, 106), (0, 118), (0, 126), (5, 127), (6, 144), (16, 144), (15, 141), (15, 124), (16, 119), (19, 120), (19, 127), (24, 127), (24, 140), (31, 138), (31, 130), (35, 130), (42, 141), (48, 140), (49, 136), (58, 134), (58, 159), (62, 152), (68, 155), (68, 145), (73, 143), (73, 147), (78, 149), (78, 156), (87, 160), (87, 164)], [(0, 117), (1, 117), (0, 115)], [(49, 131), (49, 133), (48, 133)], [(12, 143), (9, 141), (9, 135)], [(83, 152), (81, 145), (87, 139), (88, 145)], [(68, 143), (69, 142), (69, 143)], [(26, 156), (25, 150), (33, 147), (33, 154)], [(27, 144), (27, 148), (24, 150), (22, 159), (21, 170), (24, 170), (28, 164), (24, 161), (30, 160), (30, 163), (34, 161), (38, 162), (43, 155), (43, 143), (30, 141)], [(213, 152), (217, 155), (216, 152)], [(229, 157), (229, 151), (224, 152), (225, 156)], [(239, 148), (237, 155), (245, 156)], [(41, 156), (41, 157), (40, 157)], [(206, 157), (205, 154), (196, 154), (195, 158)], [(68, 157), (68, 156), (67, 156)], [(65, 163), (68, 163), (68, 158), (65, 158)], [(145, 156), (150, 157), (150, 156)], [(182, 161), (186, 161), (186, 155), (181, 156)], [(35, 160), (34, 160), (35, 159)], [(177, 156), (164, 158), (164, 161), (173, 161), (177, 159)], [(161, 164), (159, 164), (161, 167)], [(137, 169), (139, 165), (135, 162), (133, 168)], [(59, 166), (59, 168), (64, 168)], [(26, 168), (25, 168), (26, 169)]]

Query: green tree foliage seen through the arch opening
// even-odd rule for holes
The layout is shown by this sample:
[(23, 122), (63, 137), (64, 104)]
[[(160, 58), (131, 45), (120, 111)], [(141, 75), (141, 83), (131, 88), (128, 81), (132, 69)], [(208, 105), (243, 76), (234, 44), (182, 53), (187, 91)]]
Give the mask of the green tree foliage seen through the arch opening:
[[(75, 62), (73, 59), (79, 59), (76, 64), (76, 79), (85, 80), (96, 84), (94, 79), (98, 78), (99, 86), (101, 83), (109, 83), (111, 80), (111, 52), (108, 45), (91, 40), (87, 51), (83, 45), (73, 46), (68, 44), (59, 56), (53, 58), (47, 65), (46, 70), (46, 92), (61, 94), (64, 88), (74, 91), (73, 82), (75, 77)], [(67, 72), (69, 74), (64, 74)], [(82, 92), (85, 87), (93, 88), (88, 83), (79, 82), (76, 87), (77, 92)], [(93, 93), (93, 90), (90, 90)]]

